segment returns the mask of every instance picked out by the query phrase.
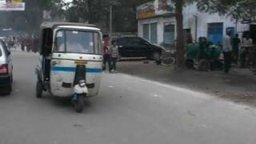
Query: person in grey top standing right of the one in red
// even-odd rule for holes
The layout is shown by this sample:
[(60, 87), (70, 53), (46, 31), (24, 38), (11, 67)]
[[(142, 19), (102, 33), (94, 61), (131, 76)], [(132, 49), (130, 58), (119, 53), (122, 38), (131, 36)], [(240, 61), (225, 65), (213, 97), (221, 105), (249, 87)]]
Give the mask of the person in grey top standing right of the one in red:
[(111, 42), (110, 50), (111, 50), (111, 60), (112, 60), (112, 69), (113, 69), (112, 72), (116, 72), (117, 70), (116, 63), (119, 57), (119, 51), (118, 51), (118, 46), (116, 41), (113, 40)]

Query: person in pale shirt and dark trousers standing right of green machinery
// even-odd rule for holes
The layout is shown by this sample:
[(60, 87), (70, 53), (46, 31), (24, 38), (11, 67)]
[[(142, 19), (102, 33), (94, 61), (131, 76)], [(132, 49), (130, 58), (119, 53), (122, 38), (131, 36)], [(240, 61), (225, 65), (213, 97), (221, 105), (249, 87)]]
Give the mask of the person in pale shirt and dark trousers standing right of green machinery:
[(224, 54), (224, 70), (225, 73), (230, 72), (231, 67), (231, 56), (232, 56), (232, 46), (231, 46), (231, 38), (230, 38), (230, 30), (226, 31), (226, 35), (223, 38), (223, 46), (222, 51)]

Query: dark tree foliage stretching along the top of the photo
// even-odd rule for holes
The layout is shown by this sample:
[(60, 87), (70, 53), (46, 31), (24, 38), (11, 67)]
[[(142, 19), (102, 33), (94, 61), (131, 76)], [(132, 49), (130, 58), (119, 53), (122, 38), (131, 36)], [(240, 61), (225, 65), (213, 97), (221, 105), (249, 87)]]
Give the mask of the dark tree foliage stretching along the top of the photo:
[[(50, 11), (52, 20), (66, 18), (70, 22), (90, 22), (109, 27), (110, 5), (113, 6), (114, 31), (136, 32), (136, 7), (154, 0), (73, 0), (66, 3), (63, 0), (23, 0), (26, 2), (25, 11), (0, 12), (0, 26), (10, 26), (16, 30), (34, 33), (43, 19), (43, 11)], [(171, 0), (174, 4), (182, 2), (186, 6), (197, 2), (199, 10), (231, 15), (234, 19), (256, 20), (255, 0)], [(175, 5), (173, 9), (175, 9)], [(5, 22), (6, 21), (6, 22)]]

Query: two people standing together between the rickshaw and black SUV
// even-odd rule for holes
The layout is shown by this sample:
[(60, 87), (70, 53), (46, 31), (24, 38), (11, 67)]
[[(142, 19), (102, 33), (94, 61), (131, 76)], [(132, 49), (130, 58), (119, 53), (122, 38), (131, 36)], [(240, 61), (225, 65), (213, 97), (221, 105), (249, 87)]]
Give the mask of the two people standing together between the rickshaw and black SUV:
[(103, 70), (106, 70), (106, 64), (108, 64), (109, 72), (115, 73), (117, 72), (117, 61), (119, 57), (119, 51), (117, 42), (115, 40), (110, 42), (105, 39), (104, 40), (104, 49), (103, 49)]

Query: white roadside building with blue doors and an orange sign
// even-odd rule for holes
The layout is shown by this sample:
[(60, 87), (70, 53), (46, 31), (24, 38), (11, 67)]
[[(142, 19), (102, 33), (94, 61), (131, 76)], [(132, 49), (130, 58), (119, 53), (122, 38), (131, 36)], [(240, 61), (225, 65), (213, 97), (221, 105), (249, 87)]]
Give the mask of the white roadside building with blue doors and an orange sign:
[[(174, 43), (176, 39), (175, 17), (166, 10), (170, 4), (168, 0), (155, 0), (138, 6), (139, 37), (157, 44)], [(230, 17), (199, 12), (196, 3), (184, 7), (183, 25), (184, 32), (191, 33), (194, 42), (199, 37), (206, 37), (215, 44), (222, 42), (227, 29), (231, 30), (233, 35), (250, 30), (250, 24), (238, 22), (236, 26), (236, 22)]]

